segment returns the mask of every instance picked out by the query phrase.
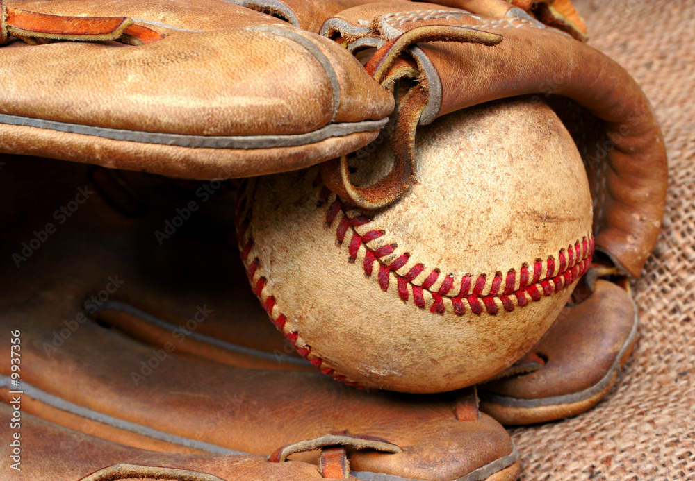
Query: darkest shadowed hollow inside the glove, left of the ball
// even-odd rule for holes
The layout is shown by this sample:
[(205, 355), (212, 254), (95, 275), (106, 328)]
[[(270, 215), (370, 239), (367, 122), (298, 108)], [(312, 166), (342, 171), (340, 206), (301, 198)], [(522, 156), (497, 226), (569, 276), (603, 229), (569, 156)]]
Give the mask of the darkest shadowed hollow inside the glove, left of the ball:
[[(103, 290), (111, 282), (109, 278), (122, 281), (112, 293), (115, 296), (104, 292), (108, 298), (89, 303), (87, 312), (95, 319), (149, 344), (163, 346), (173, 341), (179, 353), (204, 353), (218, 362), (238, 366), (287, 369), (286, 363), (277, 359), (297, 357), (270, 326), (247, 286), (234, 245), (234, 209), (230, 205), (234, 192), (229, 183), (172, 182), (101, 167), (56, 164), (48, 159), (0, 158), (6, 162), (2, 167), (6, 183), (29, 172), (46, 172), (40, 196), (15, 193), (14, 199), (7, 200), (13, 210), (3, 219), (3, 246), (9, 256), (4, 265), (8, 271), (29, 271), (26, 275), (40, 282), (44, 277), (42, 264), (34, 262), (34, 255), (24, 257), (23, 244), (35, 245), (33, 228), (44, 231), (46, 223), (51, 223), (60, 229), (65, 243), (53, 251), (58, 259), (45, 259), (48, 266), (58, 269), (65, 265), (60, 262), (67, 262), (64, 257), (82, 253), (81, 262), (70, 264), (70, 271), (61, 274), (79, 278), (77, 283), (70, 282), (70, 296), (86, 301)], [(80, 188), (89, 196), (79, 210), (90, 214), (67, 217), (58, 208), (74, 201)], [(179, 225), (182, 215), (188, 219), (174, 226)], [(27, 219), (37, 219), (36, 225)], [(13, 254), (19, 257), (13, 259)], [(99, 260), (98, 268), (95, 259)], [(8, 299), (19, 301), (29, 295), (24, 285), (3, 282), (3, 296)], [(197, 314), (198, 306), (208, 312), (205, 322), (197, 323), (195, 334), (214, 336), (223, 345), (215, 347), (195, 336), (174, 334)], [(149, 314), (148, 320), (133, 324), (142, 312)], [(157, 329), (153, 324), (157, 321), (165, 326)], [(225, 348), (229, 344), (234, 349)], [(256, 355), (241, 355), (245, 349)]]

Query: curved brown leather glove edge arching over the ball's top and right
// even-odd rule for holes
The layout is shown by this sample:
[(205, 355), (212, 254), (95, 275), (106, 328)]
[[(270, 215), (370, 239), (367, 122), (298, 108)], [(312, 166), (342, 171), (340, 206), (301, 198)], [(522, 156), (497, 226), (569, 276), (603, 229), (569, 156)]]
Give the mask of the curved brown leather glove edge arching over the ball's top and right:
[(664, 141), (648, 100), (630, 75), (602, 53), (502, 3), (470, 2), (491, 17), (434, 3), (369, 3), (328, 19), (322, 34), (340, 36), (352, 51), (380, 47), (418, 26), (468, 26), (502, 34), (496, 47), (460, 42), (411, 47), (418, 82), (430, 94), (420, 123), (520, 94), (563, 96), (588, 109), (592, 120), (580, 128), (591, 130), (598, 119), (604, 138), (598, 148), (575, 138), (589, 169), (598, 170), (592, 175), (604, 186), (595, 196), (601, 212), (596, 244), (639, 276), (660, 229), (667, 183)]

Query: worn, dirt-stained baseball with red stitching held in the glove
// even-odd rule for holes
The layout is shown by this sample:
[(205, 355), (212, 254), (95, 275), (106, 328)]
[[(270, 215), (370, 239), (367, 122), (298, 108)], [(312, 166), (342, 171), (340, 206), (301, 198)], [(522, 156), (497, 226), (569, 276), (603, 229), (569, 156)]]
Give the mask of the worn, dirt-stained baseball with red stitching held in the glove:
[[(354, 155), (355, 182), (373, 183), (390, 155), (388, 142)], [(541, 338), (591, 264), (587, 175), (546, 104), (441, 117), (418, 128), (417, 163), (409, 192), (375, 211), (339, 199), (318, 168), (241, 190), (254, 292), (297, 351), (350, 384), (431, 393), (489, 379)]]

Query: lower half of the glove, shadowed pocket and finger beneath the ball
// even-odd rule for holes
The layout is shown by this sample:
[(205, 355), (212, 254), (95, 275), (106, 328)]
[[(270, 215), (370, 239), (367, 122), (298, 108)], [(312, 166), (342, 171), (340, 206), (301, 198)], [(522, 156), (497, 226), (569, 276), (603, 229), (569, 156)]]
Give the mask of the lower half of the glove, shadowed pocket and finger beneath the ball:
[[(339, 476), (325, 471), (332, 478), (347, 475), (349, 459), (361, 478), (516, 480), (516, 449), (499, 423), (478, 412), (474, 389), (430, 397), (366, 392), (284, 354), (291, 351), (258, 321), (264, 312), (238, 252), (226, 245), (234, 215), (225, 185), (5, 160), (0, 193), (13, 209), (1, 239), (0, 351), (9, 358), (10, 332), (19, 330), (22, 421), (34, 423), (31, 414), (121, 445), (85, 439), (63, 473), (49, 463), (72, 462), (61, 459), (69, 451), (41, 460), (28, 450), (56, 431), (69, 445), (80, 434), (47, 428), (26, 447), (26, 473), (77, 481), (126, 463), (231, 481), (246, 479), (243, 466), (235, 471), (241, 460), (268, 479), (304, 472), (300, 463), (275, 468), (253, 454), (343, 466)], [(36, 246), (36, 239), (45, 240)], [(30, 253), (24, 244), (37, 248)], [(8, 403), (11, 374), (9, 364), (0, 366)], [(2, 429), (6, 439), (11, 430)], [(107, 473), (87, 479), (117, 479)]]

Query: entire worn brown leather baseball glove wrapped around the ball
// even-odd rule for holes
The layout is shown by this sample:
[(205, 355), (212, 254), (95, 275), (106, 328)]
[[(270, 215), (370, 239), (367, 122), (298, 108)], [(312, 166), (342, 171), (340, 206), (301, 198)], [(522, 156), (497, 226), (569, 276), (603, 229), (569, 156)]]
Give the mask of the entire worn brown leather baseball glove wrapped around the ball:
[[(619, 66), (578, 41), (585, 32), (571, 6), (564, 1), (532, 6), (521, 1), (465, 0), (436, 5), (400, 1), (239, 3), (167, 2), (167, 8), (161, 9), (122, 1), (87, 5), (68, 0), (6, 0), (0, 5), (0, 44), (6, 43), (0, 47), (0, 60), (5, 66), (0, 74), (0, 151), (187, 178), (270, 174), (336, 159), (322, 167), (325, 183), (345, 201), (372, 210), (408, 192), (416, 169), (418, 126), (496, 99), (521, 94), (542, 97), (568, 126), (584, 158), (594, 199), (594, 237), (599, 254), (594, 269), (585, 276), (583, 296), (578, 293), (575, 305), (559, 316), (532, 353), (503, 373), (512, 377), (486, 385), (488, 394), (483, 396), (481, 407), (504, 422), (524, 423), (575, 414), (598, 402), (635, 337), (635, 311), (625, 279), (639, 276), (655, 243), (664, 208), (666, 160), (662, 137), (644, 95)], [(46, 14), (82, 18), (77, 22), (42, 16)], [(96, 18), (85, 19), (85, 15)], [(348, 53), (366, 62), (367, 69)], [(269, 68), (268, 58), (284, 63)], [(215, 70), (217, 67), (220, 69)], [(37, 78), (38, 70), (51, 74)], [(239, 101), (249, 98), (257, 99), (251, 107)], [(351, 181), (346, 154), (379, 135), (394, 105), (398, 110), (384, 132), (391, 133), (387, 137), (392, 142), (398, 141), (393, 142), (396, 168), (372, 187), (357, 187)], [(51, 171), (46, 166), (41, 164)], [(104, 176), (100, 172), (94, 175)], [(24, 171), (18, 178), (28, 175)], [(57, 178), (51, 180), (57, 182)], [(111, 185), (102, 190), (107, 193), (99, 195), (110, 199), (104, 202), (117, 205), (126, 218), (142, 212), (143, 204), (131, 196), (132, 189)], [(12, 192), (17, 199), (21, 197), (17, 190)], [(10, 196), (6, 203), (19, 205), (19, 200)], [(169, 231), (174, 230), (174, 234), (165, 231), (165, 220), (169, 219), (160, 217), (164, 219), (163, 227), (142, 224), (147, 227), (136, 229), (129, 242), (139, 244), (142, 238), (156, 235), (153, 231), (157, 230), (162, 235), (155, 237), (156, 242), (161, 240), (163, 245), (170, 240), (164, 236), (175, 239), (177, 232), (182, 235), (173, 219), (183, 219), (183, 214), (172, 204), (167, 208), (173, 210)], [(101, 218), (103, 212), (91, 212), (92, 219)], [(25, 214), (31, 217), (30, 212)], [(212, 217), (218, 221), (217, 215)], [(24, 242), (26, 218), (8, 221), (16, 229), (13, 239), (19, 246)], [(111, 233), (101, 231), (90, 237), (92, 222), (82, 221), (70, 230), (70, 237), (86, 236), (81, 242), (98, 244), (104, 236), (116, 238), (115, 233), (124, 228), (123, 223), (114, 225)], [(58, 243), (59, 237), (50, 239)], [(70, 245), (67, 237), (60, 245)], [(81, 310), (81, 302), (72, 302), (74, 298), (106, 282), (104, 276), (111, 275), (106, 271), (112, 267), (118, 271), (126, 265), (142, 267), (133, 259), (152, 255), (145, 250), (123, 262), (118, 255), (109, 257), (99, 248), (82, 250), (82, 245), (72, 257), (66, 254), (70, 268), (53, 257), (57, 251), (49, 255), (42, 253), (48, 251), (30, 248), (31, 255), (19, 253), (28, 261), (20, 261), (24, 263), (25, 280), (3, 288), (3, 293), (10, 294), (8, 299), (21, 299), (23, 303), (3, 307), (13, 312), (5, 319), (26, 323), (28, 337), (39, 345), (50, 346), (55, 332), (60, 338), (65, 321), (46, 312), (60, 312), (72, 319), (70, 314)], [(187, 247), (186, 253), (178, 251), (178, 255), (160, 260), (154, 267), (149, 264), (135, 269), (134, 277), (148, 278), (156, 273), (166, 278), (170, 273), (167, 269), (181, 264), (183, 258), (195, 265), (195, 254), (191, 257), (191, 253), (201, 251)], [(87, 252), (92, 252), (89, 260)], [(96, 276), (95, 258), (104, 260), (104, 271), (97, 269)], [(219, 258), (199, 259), (219, 264)], [(38, 267), (30, 267), (31, 262)], [(53, 271), (53, 267), (60, 267), (55, 269), (61, 272), (60, 277), (35, 282), (41, 272)], [(220, 282), (219, 274), (199, 279), (195, 267), (188, 265), (188, 269), (186, 275), (200, 280), (203, 292), (226, 285)], [(88, 273), (85, 280), (76, 281), (76, 277), (81, 279), (75, 275), (78, 271)], [(58, 289), (56, 284), (60, 282), (65, 285)], [(190, 295), (181, 286), (177, 290), (176, 286), (147, 283), (147, 290), (152, 289), (149, 296), (136, 282), (131, 291), (127, 286), (119, 290), (119, 296), (109, 298), (110, 303), (102, 303), (111, 308), (96, 310), (93, 317), (109, 325), (121, 324), (122, 330), (136, 339), (154, 339), (149, 342), (161, 345), (158, 349), (167, 345), (167, 337), (162, 334), (167, 326), (175, 330), (177, 323), (195, 314), (190, 313), (190, 307), (199, 305), (195, 301), (181, 302), (176, 307), (161, 301), (170, 298), (172, 292), (181, 298)], [(58, 305), (56, 296), (72, 301)], [(36, 303), (33, 310), (29, 309)], [(228, 312), (234, 312), (234, 307)], [(619, 322), (613, 323), (612, 319)], [(221, 446), (266, 455), (282, 444), (324, 439), (332, 432), (348, 430), (350, 434), (381, 437), (400, 447), (415, 446), (405, 453), (389, 454), (350, 449), (354, 471), (401, 478), (432, 477), (432, 473), (437, 473), (439, 479), (516, 478), (518, 464), (511, 441), (489, 417), (477, 414), (471, 391), (425, 403), (391, 394), (358, 396), (350, 389), (325, 382), (329, 380), (317, 379), (320, 376), (314, 373), (278, 373), (278, 369), (304, 371), (308, 363), (283, 354), (279, 355), (282, 362), (276, 364), (273, 357), (278, 357), (278, 350), (284, 352), (285, 344), (259, 340), (263, 339), (258, 336), (259, 330), (267, 331), (256, 328), (254, 322), (241, 322), (234, 330), (223, 321), (213, 323), (216, 327), (201, 337), (184, 337), (181, 346), (190, 346), (190, 352), (177, 353), (204, 359), (217, 357), (227, 366), (172, 356), (171, 367), (162, 363), (161, 371), (155, 371), (162, 373), (162, 378), (152, 383), (154, 387), (133, 389), (129, 385), (131, 381), (134, 384), (132, 379), (115, 380), (113, 376), (128, 378), (130, 371), (155, 380), (138, 371), (140, 360), (147, 364), (152, 359), (152, 346), (145, 348), (140, 341), (117, 332), (107, 335), (95, 326), (78, 325), (84, 330), (71, 334), (72, 343), (66, 341), (56, 353), (65, 366), (60, 372), (51, 369), (54, 362), (47, 360), (41, 348), (28, 356), (30, 365), (33, 363), (29, 379), (42, 399), (33, 406), (40, 417), (79, 430), (88, 419), (85, 413), (93, 416), (101, 412), (106, 416), (99, 420), (106, 422), (97, 423), (98, 436), (131, 446), (172, 450), (172, 444), (183, 443), (186, 449)], [(284, 333), (297, 344), (295, 332)], [(240, 343), (242, 349), (235, 347), (239, 343), (233, 341), (238, 339), (247, 339), (246, 345)], [(604, 340), (600, 348), (596, 348), (596, 339)], [(311, 359), (306, 346), (297, 347)], [(268, 355), (272, 351), (276, 354)], [(85, 364), (85, 360), (92, 364)], [(122, 366), (117, 371), (104, 367), (114, 360)], [(243, 368), (236, 363), (262, 369), (250, 375), (241, 372)], [(70, 385), (72, 378), (66, 378), (66, 373), (83, 376), (81, 390)], [(191, 387), (190, 379), (197, 384)], [(202, 390), (215, 391), (213, 387), (220, 379), (230, 380), (229, 385), (220, 389), (219, 395), (201, 401), (203, 412), (231, 412), (231, 424), (236, 427), (220, 430), (222, 421), (229, 418), (206, 419), (202, 421), (206, 431), (200, 432), (201, 419), (190, 418), (191, 412), (200, 412), (193, 408), (193, 400)], [(245, 403), (243, 409), (225, 408), (227, 398), (234, 399), (235, 393), (248, 393), (248, 398), (255, 400), (253, 407)], [(307, 399), (311, 400), (309, 404)], [(68, 405), (65, 401), (69, 410), (61, 409)], [(53, 402), (57, 404), (51, 405)], [(288, 406), (296, 405), (306, 409), (288, 419)], [(167, 406), (169, 412), (162, 413), (162, 406)], [(350, 416), (346, 414), (336, 421), (336, 406), (343, 407)], [(366, 412), (378, 412), (379, 422), (365, 421)], [(427, 413), (424, 417), (423, 412)], [(172, 413), (180, 416), (162, 419)], [(269, 425), (269, 418), (278, 422)], [(407, 429), (403, 419), (411, 424)], [(414, 419), (419, 424), (411, 422)], [(153, 430), (157, 431), (154, 438)], [(432, 444), (435, 432), (437, 441)], [(448, 434), (440, 439), (441, 432)], [(66, 435), (70, 439), (70, 434)], [(195, 441), (193, 448), (187, 444), (191, 439)], [(199, 442), (202, 444), (196, 444)], [(349, 446), (361, 445), (354, 441)], [(443, 457), (439, 450), (450, 456)], [(123, 457), (136, 455), (134, 451), (124, 452)], [(317, 462), (318, 455), (294, 456)], [(94, 459), (99, 459), (99, 466), (107, 467), (121, 462), (118, 458)], [(210, 465), (203, 459), (190, 462), (193, 458), (155, 458), (152, 463), (161, 466), (236, 475), (207, 468)], [(281, 459), (281, 455), (275, 459)], [(337, 459), (344, 460), (345, 455)], [(85, 466), (99, 468), (93, 463)], [(259, 467), (259, 472), (263, 469)], [(297, 472), (302, 469), (297, 468)]]

